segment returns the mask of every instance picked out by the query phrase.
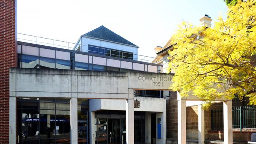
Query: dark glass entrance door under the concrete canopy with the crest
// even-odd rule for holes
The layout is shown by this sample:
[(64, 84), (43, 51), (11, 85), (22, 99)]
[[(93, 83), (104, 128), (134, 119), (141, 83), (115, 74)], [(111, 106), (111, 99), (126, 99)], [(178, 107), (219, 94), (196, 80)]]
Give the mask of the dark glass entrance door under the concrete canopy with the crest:
[(120, 119), (108, 119), (108, 143), (120, 144), (121, 142), (121, 130)]

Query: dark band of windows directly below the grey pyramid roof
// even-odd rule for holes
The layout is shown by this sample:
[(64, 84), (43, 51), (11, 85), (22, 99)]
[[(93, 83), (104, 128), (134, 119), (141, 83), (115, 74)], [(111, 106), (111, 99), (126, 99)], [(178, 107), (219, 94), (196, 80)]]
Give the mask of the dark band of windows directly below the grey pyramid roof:
[(124, 52), (121, 50), (112, 50), (109, 48), (102, 48), (98, 46), (89, 45), (88, 52), (91, 54), (100, 54), (111, 57), (119, 57), (123, 59), (134, 59), (134, 54), (132, 52)]

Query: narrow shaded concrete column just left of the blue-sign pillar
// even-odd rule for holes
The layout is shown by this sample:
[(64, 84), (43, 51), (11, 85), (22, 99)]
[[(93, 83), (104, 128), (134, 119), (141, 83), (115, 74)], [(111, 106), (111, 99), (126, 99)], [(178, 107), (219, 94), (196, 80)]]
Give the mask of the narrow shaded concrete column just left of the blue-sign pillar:
[(145, 142), (151, 144), (151, 113), (145, 113)]

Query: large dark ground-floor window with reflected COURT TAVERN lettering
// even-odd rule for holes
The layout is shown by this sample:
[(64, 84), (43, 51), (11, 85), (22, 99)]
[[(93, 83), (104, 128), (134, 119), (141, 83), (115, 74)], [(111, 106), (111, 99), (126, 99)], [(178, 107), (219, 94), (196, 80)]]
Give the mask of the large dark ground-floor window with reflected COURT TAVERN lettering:
[(61, 111), (56, 110), (59, 104), (70, 105), (70, 102), (69, 99), (18, 99), (17, 124), (22, 144), (37, 144), (39, 140), (41, 143), (70, 142), (70, 107), (63, 110), (65, 107), (61, 106)]

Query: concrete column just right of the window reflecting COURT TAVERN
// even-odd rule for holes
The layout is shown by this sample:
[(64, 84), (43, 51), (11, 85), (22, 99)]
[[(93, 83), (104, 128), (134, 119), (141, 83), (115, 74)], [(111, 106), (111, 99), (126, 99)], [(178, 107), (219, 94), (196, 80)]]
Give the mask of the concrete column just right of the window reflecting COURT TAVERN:
[(71, 144), (78, 143), (78, 128), (77, 128), (77, 98), (70, 100), (70, 142)]

